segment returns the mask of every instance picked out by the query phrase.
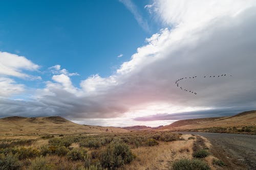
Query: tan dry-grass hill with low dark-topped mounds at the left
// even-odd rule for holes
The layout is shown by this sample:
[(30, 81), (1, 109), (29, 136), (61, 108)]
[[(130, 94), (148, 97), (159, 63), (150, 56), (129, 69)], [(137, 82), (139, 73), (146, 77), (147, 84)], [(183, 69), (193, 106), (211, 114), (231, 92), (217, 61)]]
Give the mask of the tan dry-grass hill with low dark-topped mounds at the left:
[(78, 125), (60, 116), (0, 118), (0, 135), (118, 133), (128, 130), (114, 127)]

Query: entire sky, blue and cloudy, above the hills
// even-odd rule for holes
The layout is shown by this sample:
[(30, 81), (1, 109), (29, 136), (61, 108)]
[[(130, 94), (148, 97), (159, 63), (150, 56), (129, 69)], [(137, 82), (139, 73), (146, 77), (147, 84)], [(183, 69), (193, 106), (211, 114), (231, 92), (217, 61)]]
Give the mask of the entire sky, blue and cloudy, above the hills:
[(156, 127), (256, 109), (255, 18), (250, 0), (6, 1), (0, 117)]

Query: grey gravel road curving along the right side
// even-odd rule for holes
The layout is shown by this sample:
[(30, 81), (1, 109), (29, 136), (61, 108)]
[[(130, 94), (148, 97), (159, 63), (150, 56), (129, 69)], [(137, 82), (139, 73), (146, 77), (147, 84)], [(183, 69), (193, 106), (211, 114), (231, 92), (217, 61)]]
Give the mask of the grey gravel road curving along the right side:
[[(256, 135), (184, 132), (201, 135), (213, 145), (211, 152), (230, 168), (256, 169)], [(243, 165), (244, 164), (244, 165)]]

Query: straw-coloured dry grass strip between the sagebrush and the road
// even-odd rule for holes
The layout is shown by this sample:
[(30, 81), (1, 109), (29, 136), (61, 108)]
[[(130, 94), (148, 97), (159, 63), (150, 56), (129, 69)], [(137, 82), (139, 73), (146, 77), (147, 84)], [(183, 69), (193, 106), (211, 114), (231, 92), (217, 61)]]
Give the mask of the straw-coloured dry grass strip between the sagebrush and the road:
[[(188, 138), (189, 136), (191, 135), (183, 135), (182, 137)], [(194, 140), (179, 140), (160, 142), (159, 145), (154, 147), (139, 147), (133, 149), (133, 153), (137, 155), (136, 160), (120, 169), (168, 169), (174, 160), (192, 158), (193, 141)], [(181, 150), (185, 152), (180, 152)]]

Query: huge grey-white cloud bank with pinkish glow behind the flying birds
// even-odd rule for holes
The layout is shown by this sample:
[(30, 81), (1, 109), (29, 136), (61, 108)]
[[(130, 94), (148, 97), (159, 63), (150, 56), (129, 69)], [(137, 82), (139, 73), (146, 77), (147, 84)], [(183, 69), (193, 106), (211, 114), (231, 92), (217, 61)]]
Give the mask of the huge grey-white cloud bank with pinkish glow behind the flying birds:
[[(256, 108), (256, 2), (194, 2), (155, 1), (155, 15), (168, 28), (147, 38), (147, 44), (138, 47), (131, 60), (110, 77), (93, 75), (74, 87), (71, 75), (60, 72), (57, 65), (54, 82), (47, 82), (42, 89), (45, 93), (37, 95), (33, 104), (5, 101), (1, 113), (12, 113), (6, 107), (11, 105), (32, 115), (51, 113), (84, 118), (86, 123), (88, 118), (125, 115), (143, 121), (136, 117), (151, 114), (151, 118), (169, 120), (175, 118), (170, 113), (179, 112), (182, 118), (185, 112), (187, 118), (198, 110), (208, 110), (210, 115), (216, 110)], [(203, 78), (224, 73), (232, 77)], [(194, 89), (197, 95), (176, 87), (177, 79), (195, 75), (198, 79), (182, 81), (181, 85)]]

